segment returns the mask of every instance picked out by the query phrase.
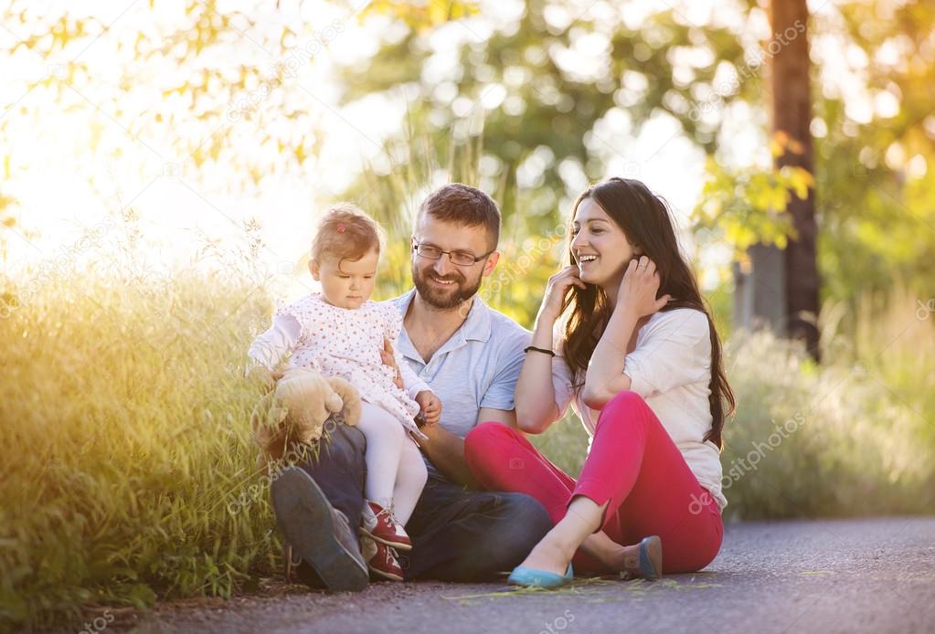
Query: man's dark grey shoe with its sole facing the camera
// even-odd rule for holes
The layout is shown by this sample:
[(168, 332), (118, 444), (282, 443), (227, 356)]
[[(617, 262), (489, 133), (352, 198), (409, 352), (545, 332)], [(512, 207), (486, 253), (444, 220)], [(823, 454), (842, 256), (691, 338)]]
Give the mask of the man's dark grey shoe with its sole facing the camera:
[(367, 587), (367, 564), (347, 518), (332, 508), (308, 473), (296, 467), (283, 470), (270, 494), (282, 535), (292, 546), (290, 560), (305, 560), (329, 590)]

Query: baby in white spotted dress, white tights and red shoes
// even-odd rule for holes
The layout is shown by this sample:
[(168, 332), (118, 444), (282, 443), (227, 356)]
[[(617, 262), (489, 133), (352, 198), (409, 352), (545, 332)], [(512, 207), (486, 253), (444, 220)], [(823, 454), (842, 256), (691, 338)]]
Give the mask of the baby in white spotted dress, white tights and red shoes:
[(369, 301), (380, 248), (380, 227), (367, 214), (347, 203), (330, 209), (309, 260), (322, 292), (278, 310), (272, 327), (253, 341), (250, 356), (272, 370), (292, 353), (291, 366), (342, 377), (360, 392), (364, 403), (357, 426), (367, 438), (361, 532), (377, 550), (367, 567), (384, 579), (402, 581), (395, 549), (412, 548), (403, 526), (427, 479), (422, 454), (410, 437), (424, 438), (413, 417), (421, 411), (425, 424), (438, 423), (441, 401), (398, 353), (398, 373), (382, 363), (384, 339), (396, 349), (402, 316), (392, 302)]

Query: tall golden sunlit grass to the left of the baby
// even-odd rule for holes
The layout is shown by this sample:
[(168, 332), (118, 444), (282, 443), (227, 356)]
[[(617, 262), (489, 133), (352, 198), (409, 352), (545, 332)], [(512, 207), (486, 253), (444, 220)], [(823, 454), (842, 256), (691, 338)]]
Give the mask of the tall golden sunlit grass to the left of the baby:
[(0, 622), (228, 596), (276, 549), (242, 380), (265, 300), (216, 275), (32, 281), (0, 320)]

